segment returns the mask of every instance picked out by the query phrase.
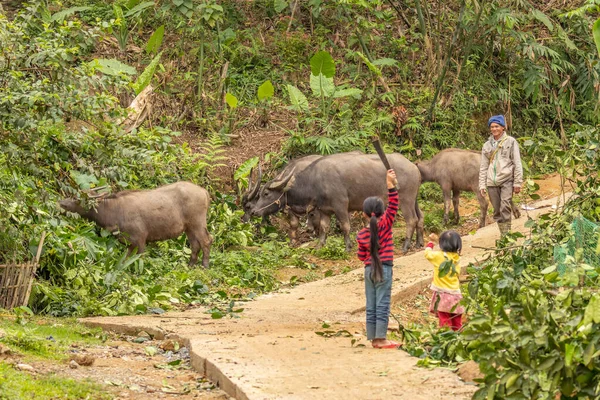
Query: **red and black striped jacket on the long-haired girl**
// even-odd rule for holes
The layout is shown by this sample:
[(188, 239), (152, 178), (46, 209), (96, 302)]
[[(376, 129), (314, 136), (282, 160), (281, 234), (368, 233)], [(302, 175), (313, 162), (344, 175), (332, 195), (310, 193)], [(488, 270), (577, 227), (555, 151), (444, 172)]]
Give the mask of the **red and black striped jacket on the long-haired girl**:
[[(398, 191), (388, 190), (388, 207), (377, 222), (379, 235), (379, 258), (382, 263), (394, 261), (394, 241), (392, 238), (392, 225), (398, 213)], [(369, 227), (363, 228), (356, 235), (358, 242), (358, 259), (365, 262), (365, 267), (371, 265), (371, 232)]]

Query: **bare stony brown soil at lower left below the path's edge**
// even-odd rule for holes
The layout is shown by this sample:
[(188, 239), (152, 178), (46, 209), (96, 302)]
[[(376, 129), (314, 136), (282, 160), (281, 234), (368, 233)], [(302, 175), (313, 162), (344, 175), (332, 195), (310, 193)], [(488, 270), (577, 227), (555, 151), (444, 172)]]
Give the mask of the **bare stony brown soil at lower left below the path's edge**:
[[(69, 351), (70, 360), (91, 363), (88, 366), (46, 360), (27, 361), (27, 364), (34, 368), (33, 376), (89, 379), (103, 385), (115, 399), (230, 399), (191, 368), (187, 348), (171, 340), (148, 340), (137, 344), (132, 342), (134, 339), (114, 335), (101, 346), (73, 346)], [(0, 360), (9, 364), (25, 362), (18, 354), (0, 355)]]

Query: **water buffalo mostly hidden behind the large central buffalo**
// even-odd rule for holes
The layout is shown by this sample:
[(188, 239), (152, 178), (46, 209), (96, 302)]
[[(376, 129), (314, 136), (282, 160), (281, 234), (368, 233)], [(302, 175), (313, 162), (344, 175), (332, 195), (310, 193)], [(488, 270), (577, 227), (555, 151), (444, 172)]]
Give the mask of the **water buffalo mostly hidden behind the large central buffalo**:
[[(303, 171), (306, 167), (312, 164), (314, 161), (322, 158), (320, 155), (310, 155), (301, 157), (295, 160), (292, 160), (285, 166), (285, 168), (278, 174), (278, 176), (284, 176), (293, 171), (294, 174), (297, 174)], [(248, 222), (252, 215), (252, 210), (255, 208), (256, 203), (258, 202), (260, 196), (260, 181), (262, 174), (259, 170), (258, 178), (256, 183), (252, 183), (252, 172), (250, 173), (250, 180), (248, 184), (248, 191), (244, 193), (242, 196), (242, 207), (244, 209), (244, 215), (242, 216), (242, 220), (244, 222)], [(314, 207), (313, 207), (314, 208)], [(298, 238), (298, 226), (300, 225), (300, 216), (306, 214), (310, 209), (307, 210), (306, 207), (288, 207), (287, 208), (287, 218), (290, 224), (289, 237), (292, 243), (295, 243)], [(263, 218), (267, 217), (270, 214), (264, 214)], [(316, 210), (312, 210), (311, 219), (313, 221), (317, 220), (320, 225), (320, 213)], [(310, 227), (313, 225), (309, 224)]]

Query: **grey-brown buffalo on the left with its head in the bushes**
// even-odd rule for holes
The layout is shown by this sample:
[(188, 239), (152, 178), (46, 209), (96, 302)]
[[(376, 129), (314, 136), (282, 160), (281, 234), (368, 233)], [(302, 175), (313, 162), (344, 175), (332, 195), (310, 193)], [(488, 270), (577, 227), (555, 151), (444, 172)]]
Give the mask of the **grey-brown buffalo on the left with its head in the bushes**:
[(190, 265), (196, 264), (202, 249), (202, 265), (208, 267), (212, 237), (206, 229), (206, 214), (210, 195), (193, 183), (118, 192), (101, 198), (91, 210), (75, 199), (64, 199), (59, 204), (106, 230), (119, 232), (119, 239), (129, 243), (128, 254), (135, 249), (142, 253), (147, 242), (173, 239), (185, 232), (192, 249)]

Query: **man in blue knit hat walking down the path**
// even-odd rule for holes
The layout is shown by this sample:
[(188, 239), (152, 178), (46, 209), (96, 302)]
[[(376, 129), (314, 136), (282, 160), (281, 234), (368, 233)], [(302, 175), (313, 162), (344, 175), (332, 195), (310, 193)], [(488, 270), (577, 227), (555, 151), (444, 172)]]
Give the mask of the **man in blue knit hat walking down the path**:
[(479, 190), (483, 196), (487, 190), (494, 207), (494, 221), (504, 236), (511, 227), (513, 193), (519, 193), (523, 184), (523, 167), (519, 144), (506, 133), (504, 116), (494, 115), (488, 127), (492, 135), (481, 151)]

